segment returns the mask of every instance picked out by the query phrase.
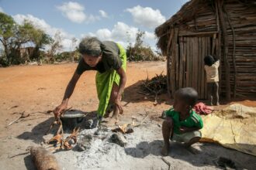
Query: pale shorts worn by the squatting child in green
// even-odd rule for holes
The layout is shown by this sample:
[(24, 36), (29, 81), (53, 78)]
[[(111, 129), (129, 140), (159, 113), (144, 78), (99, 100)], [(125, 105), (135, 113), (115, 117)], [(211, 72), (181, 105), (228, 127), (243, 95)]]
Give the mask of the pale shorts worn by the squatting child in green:
[(173, 137), (171, 138), (171, 141), (179, 141), (179, 142), (189, 142), (192, 138), (195, 137), (202, 137), (201, 131), (191, 131), (187, 132), (185, 134), (173, 134)]

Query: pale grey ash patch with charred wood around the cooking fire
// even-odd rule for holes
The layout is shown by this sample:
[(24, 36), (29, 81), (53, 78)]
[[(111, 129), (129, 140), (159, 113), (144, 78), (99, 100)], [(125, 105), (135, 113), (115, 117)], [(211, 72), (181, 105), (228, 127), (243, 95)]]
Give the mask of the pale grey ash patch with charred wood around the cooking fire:
[[(47, 141), (53, 134), (43, 137), (44, 145), (47, 145), (45, 148), (54, 151), (57, 161), (67, 169), (123, 169), (123, 167), (134, 169), (140, 168), (142, 164), (145, 168), (154, 167), (156, 162), (141, 158), (157, 158), (158, 162), (162, 146), (161, 133), (159, 133), (161, 127), (157, 122), (150, 120), (147, 112), (136, 115), (138, 116), (122, 117), (119, 125), (110, 127), (103, 121), (100, 126), (95, 127), (96, 115), (88, 114), (79, 123), (78, 133), (73, 135), (76, 136), (76, 142), (69, 141), (70, 148), (61, 148), (61, 143), (57, 144), (57, 140), (55, 145), (50, 145)], [(63, 127), (65, 129), (65, 123)], [(62, 134), (64, 140), (78, 129), (75, 127), (73, 131), (72, 128), (64, 130)], [(131, 164), (134, 160), (140, 162)], [(160, 167), (164, 166), (161, 159), (158, 163)]]

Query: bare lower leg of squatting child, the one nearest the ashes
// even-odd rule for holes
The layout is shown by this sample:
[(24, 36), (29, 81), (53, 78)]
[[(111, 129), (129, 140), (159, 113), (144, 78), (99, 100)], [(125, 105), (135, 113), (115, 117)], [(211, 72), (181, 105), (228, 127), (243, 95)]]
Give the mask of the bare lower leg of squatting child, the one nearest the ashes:
[(162, 133), (164, 138), (164, 147), (162, 148), (161, 154), (167, 156), (170, 149), (170, 137), (173, 134), (173, 121), (171, 118), (167, 118), (162, 124)]

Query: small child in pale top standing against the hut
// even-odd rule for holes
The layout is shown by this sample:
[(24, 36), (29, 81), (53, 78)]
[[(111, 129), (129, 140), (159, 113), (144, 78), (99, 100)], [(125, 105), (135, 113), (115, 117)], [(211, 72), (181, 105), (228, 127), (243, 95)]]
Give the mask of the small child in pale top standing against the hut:
[(215, 100), (215, 105), (219, 103), (219, 71), (220, 60), (214, 59), (213, 56), (205, 56), (205, 70), (206, 70), (206, 82), (208, 90), (209, 104), (212, 106)]

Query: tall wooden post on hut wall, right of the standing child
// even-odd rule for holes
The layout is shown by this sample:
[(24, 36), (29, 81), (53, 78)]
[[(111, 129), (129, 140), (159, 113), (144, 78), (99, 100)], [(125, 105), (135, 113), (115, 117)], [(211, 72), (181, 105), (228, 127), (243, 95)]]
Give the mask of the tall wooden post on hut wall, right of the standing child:
[(223, 61), (225, 66), (225, 85), (226, 85), (226, 99), (230, 101), (230, 63), (228, 62), (228, 37), (227, 37), (227, 26), (223, 15), (223, 0), (216, 1), (218, 6), (218, 13), (220, 17), (220, 26), (223, 36)]

